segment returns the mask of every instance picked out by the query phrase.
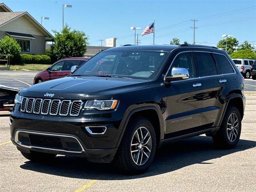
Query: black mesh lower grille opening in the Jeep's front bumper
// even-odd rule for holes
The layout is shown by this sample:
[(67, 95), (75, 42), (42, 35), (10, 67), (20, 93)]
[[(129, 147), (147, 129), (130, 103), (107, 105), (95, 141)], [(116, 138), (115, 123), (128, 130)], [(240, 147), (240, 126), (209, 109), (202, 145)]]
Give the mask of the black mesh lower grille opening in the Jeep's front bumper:
[(60, 138), (49, 137), (42, 135), (29, 134), (29, 140), (32, 145), (40, 147), (50, 147), (50, 148), (63, 148)]

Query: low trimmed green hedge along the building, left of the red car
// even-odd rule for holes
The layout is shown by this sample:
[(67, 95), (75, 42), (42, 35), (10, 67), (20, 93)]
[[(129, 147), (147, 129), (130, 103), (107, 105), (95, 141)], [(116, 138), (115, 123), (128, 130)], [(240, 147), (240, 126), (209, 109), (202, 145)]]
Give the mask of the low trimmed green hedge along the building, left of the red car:
[(22, 64), (51, 64), (51, 59), (47, 55), (20, 54)]

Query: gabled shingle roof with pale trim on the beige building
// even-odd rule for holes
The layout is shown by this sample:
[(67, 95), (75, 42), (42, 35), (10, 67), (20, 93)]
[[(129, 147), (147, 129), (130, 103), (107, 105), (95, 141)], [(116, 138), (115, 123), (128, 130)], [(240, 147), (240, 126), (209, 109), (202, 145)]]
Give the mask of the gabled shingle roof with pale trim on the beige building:
[(28, 12), (0, 12), (0, 27), (12, 22), (15, 19), (20, 18), (21, 16), (26, 17), (34, 26), (40, 30), (46, 37), (52, 38), (50, 34), (40, 23), (38, 23)]

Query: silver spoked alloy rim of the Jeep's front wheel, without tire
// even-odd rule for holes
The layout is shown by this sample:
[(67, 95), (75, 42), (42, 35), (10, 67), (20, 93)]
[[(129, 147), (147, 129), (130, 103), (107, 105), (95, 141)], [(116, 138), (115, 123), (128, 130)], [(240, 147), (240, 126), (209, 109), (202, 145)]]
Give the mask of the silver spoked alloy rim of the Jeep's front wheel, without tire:
[(131, 155), (137, 165), (143, 165), (150, 157), (152, 139), (146, 127), (139, 127), (132, 136)]

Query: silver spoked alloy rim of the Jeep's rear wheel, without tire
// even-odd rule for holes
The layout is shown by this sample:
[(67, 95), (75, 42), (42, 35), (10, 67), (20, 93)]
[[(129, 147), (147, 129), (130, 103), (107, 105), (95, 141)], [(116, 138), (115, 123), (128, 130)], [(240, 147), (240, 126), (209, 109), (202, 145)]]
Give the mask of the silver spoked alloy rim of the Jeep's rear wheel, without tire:
[(239, 122), (238, 117), (235, 113), (230, 114), (227, 124), (227, 135), (228, 140), (234, 142), (238, 136)]

